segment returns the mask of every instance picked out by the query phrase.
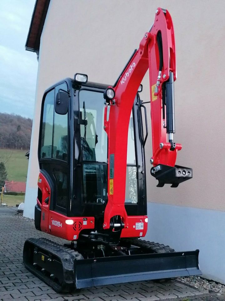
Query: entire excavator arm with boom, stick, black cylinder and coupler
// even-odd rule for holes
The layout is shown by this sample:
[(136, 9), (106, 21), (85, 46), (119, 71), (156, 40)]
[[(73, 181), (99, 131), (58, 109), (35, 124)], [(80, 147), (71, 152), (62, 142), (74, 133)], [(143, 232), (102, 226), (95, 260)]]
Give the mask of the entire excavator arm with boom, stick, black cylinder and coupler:
[(108, 203), (104, 213), (104, 229), (109, 229), (110, 221), (118, 216), (123, 226), (128, 227), (124, 207), (128, 126), (134, 99), (148, 69), (153, 146), (151, 174), (158, 179), (158, 187), (165, 183), (177, 187), (180, 182), (192, 178), (191, 168), (175, 165), (182, 145), (173, 141), (173, 83), (176, 80), (174, 30), (169, 12), (158, 8), (152, 28), (145, 33), (115, 85), (104, 92), (104, 129), (108, 135)]

